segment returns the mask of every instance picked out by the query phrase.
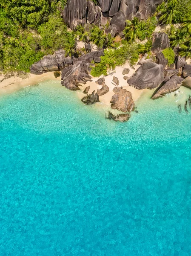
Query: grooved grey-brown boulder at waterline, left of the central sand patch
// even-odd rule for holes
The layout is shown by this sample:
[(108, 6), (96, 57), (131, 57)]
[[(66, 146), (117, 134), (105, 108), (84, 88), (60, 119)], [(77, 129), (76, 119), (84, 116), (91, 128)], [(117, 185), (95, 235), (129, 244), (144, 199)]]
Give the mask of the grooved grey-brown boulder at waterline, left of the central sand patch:
[(91, 67), (87, 61), (78, 61), (76, 64), (62, 70), (61, 84), (69, 90), (80, 90), (80, 84), (91, 81), (89, 76)]

